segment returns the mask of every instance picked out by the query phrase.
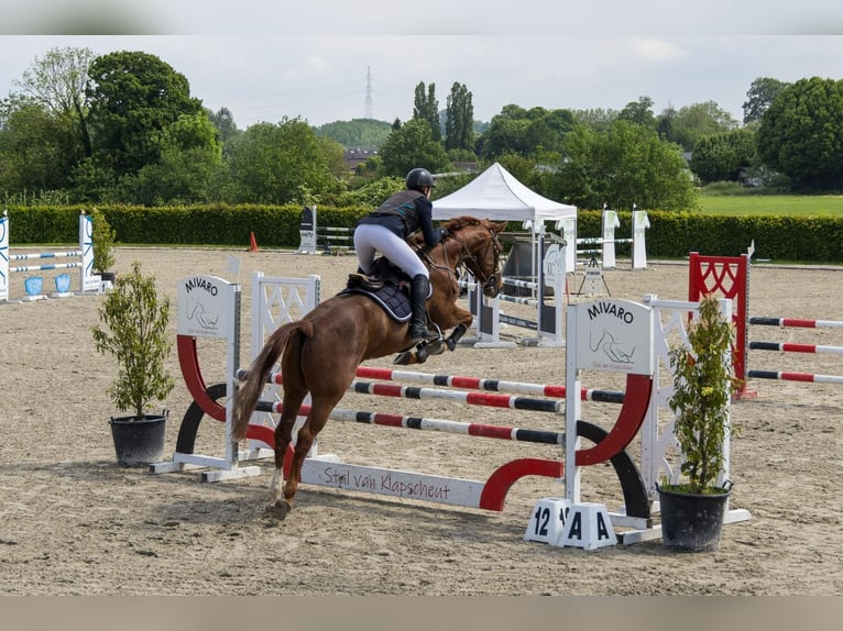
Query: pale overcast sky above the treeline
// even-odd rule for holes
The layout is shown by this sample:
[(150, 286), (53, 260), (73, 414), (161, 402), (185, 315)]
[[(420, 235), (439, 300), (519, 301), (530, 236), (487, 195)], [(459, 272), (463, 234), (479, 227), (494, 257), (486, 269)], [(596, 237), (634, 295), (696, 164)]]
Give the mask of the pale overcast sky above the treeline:
[[(713, 100), (740, 121), (757, 77), (843, 78), (843, 9), (820, 0), (777, 10), (762, 0), (125, 0), (118, 9), (88, 0), (81, 13), (58, 11), (68, 4), (31, 0), (13, 13), (18, 23), (0, 24), (10, 33), (0, 36), (0, 97), (36, 56), (63, 46), (157, 55), (240, 129), (285, 115), (314, 125), (363, 118), (368, 71), (372, 114), (388, 122), (412, 115), (419, 81), (436, 84), (440, 108), (451, 85), (464, 84), (482, 121), (510, 103), (621, 109), (642, 96), (655, 113)], [(101, 22), (63, 21), (85, 8), (106, 32), (153, 34), (53, 34), (96, 30), (88, 24)]]

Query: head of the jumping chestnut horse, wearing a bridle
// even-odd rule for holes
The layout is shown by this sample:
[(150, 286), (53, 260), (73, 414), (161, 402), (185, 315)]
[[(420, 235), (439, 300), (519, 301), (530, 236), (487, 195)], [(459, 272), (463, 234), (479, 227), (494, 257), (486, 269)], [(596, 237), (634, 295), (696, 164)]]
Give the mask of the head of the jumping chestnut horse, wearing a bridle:
[(462, 263), (471, 272), (490, 298), (503, 289), (501, 233), (505, 228), (505, 221), (493, 223), (473, 217), (458, 217), (445, 224), (448, 236), (460, 244), (458, 264)]

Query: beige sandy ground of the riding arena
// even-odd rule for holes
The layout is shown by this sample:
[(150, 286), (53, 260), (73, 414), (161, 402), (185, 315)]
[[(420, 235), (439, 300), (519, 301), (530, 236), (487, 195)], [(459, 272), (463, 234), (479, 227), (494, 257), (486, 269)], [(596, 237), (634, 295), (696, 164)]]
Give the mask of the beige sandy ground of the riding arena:
[[(239, 257), (239, 278), (229, 272)], [(354, 267), (350, 257), (289, 252), (117, 250), (118, 273), (141, 261), (173, 297), (176, 284), (211, 274), (243, 285), (243, 355), (249, 352), (251, 274), (321, 277), (327, 299)], [(612, 296), (686, 299), (687, 265), (628, 262), (606, 273)], [(12, 297), (22, 278), (13, 277)], [(53, 283), (45, 275), (45, 286)], [(74, 279), (74, 287), (78, 280)], [(843, 320), (843, 268), (756, 266), (753, 316)], [(6, 378), (0, 398), (0, 594), (2, 595), (839, 595), (843, 593), (840, 472), (843, 386), (754, 380), (754, 400), (734, 408), (743, 433), (732, 445), (732, 506), (749, 521), (724, 527), (720, 549), (666, 551), (660, 541), (596, 551), (524, 542), (535, 500), (561, 495), (550, 479), (525, 478), (502, 513), (441, 507), (302, 486), (282, 523), (265, 517), (271, 462), (261, 476), (218, 484), (195, 471), (152, 475), (118, 466), (108, 425), (117, 414), (106, 389), (111, 357), (95, 352), (90, 328), (102, 297), (0, 305)], [(515, 307), (512, 309), (515, 311)], [(171, 323), (175, 341), (175, 318)], [(755, 331), (755, 329), (753, 329)], [(526, 332), (507, 329), (510, 339)], [(767, 328), (754, 339), (841, 345), (840, 330)], [(223, 380), (221, 346), (200, 348), (206, 380)], [(200, 341), (200, 346), (202, 341)], [(839, 355), (753, 352), (754, 368), (843, 374)], [(390, 366), (391, 357), (370, 362)], [(190, 398), (175, 352), (176, 388), (166, 401), (165, 458), (175, 449)], [(428, 373), (565, 383), (565, 350), (461, 346), (434, 357)], [(589, 387), (618, 389), (610, 377)], [(380, 408), (377, 407), (380, 405)], [(563, 428), (552, 414), (446, 401), (349, 395), (342, 407), (403, 414)], [(616, 409), (584, 403), (583, 416), (611, 427)], [(202, 421), (197, 451), (222, 453), (222, 425)], [(634, 451), (638, 440), (633, 443)], [(485, 479), (514, 457), (558, 450), (485, 439), (330, 421), (322, 453), (349, 463)], [(611, 468), (583, 472), (583, 499), (616, 508)]]

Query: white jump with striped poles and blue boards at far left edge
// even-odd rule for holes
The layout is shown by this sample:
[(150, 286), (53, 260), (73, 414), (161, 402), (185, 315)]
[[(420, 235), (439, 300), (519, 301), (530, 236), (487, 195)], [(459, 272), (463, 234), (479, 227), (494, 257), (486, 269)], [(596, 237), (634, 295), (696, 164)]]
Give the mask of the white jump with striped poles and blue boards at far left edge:
[[(94, 223), (90, 215), (84, 212), (79, 214), (79, 248), (64, 250), (57, 252), (36, 252), (31, 254), (11, 254), (9, 251), (9, 213), (3, 211), (0, 217), (0, 302), (9, 301), (9, 275), (12, 273), (32, 273), (55, 269), (78, 269), (79, 270), (79, 294), (98, 292), (101, 286), (101, 278), (94, 274)], [(45, 261), (56, 258), (78, 258), (79, 261), (70, 263), (42, 263), (39, 265), (10, 266), (10, 261)], [(41, 294), (42, 277), (30, 277), (24, 281), (26, 297), (21, 301), (41, 300), (47, 298)], [(67, 274), (61, 274), (55, 279), (56, 291), (51, 294), (51, 298), (64, 298), (74, 296), (70, 289), (70, 277)]]

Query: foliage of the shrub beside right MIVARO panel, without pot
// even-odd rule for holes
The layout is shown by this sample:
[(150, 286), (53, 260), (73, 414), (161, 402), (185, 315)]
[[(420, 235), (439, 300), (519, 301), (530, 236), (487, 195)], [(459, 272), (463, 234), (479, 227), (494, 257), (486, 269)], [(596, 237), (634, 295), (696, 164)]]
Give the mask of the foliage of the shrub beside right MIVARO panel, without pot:
[(731, 362), (735, 326), (721, 314), (714, 296), (700, 301), (700, 317), (690, 324), (688, 341), (690, 351), (685, 345), (670, 350), (675, 390), (668, 400), (676, 414), (674, 434), (688, 483), (669, 487), (696, 495), (724, 492), (714, 484), (723, 468), (729, 402), (740, 380), (732, 374)]

